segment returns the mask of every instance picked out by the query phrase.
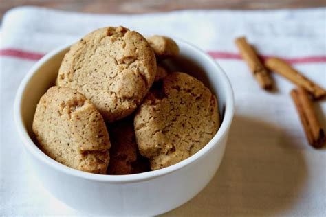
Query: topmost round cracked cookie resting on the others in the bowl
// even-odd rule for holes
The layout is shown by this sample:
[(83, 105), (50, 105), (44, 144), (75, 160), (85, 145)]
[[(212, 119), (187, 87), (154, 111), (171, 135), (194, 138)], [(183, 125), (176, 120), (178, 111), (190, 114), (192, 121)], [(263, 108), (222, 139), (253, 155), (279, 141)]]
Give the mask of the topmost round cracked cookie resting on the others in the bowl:
[(155, 74), (155, 54), (141, 34), (105, 27), (70, 47), (57, 83), (85, 95), (105, 120), (114, 122), (136, 109)]

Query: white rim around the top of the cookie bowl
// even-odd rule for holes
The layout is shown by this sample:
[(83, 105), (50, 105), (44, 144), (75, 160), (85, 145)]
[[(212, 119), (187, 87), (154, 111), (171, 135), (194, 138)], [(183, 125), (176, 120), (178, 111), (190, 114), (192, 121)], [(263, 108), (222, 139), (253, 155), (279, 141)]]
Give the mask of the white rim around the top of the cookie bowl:
[(228, 79), (228, 76), (226, 76), (226, 73), (223, 69), (217, 64), (217, 62), (210, 57), (206, 52), (202, 51), (202, 49), (199, 49), (195, 45), (191, 45), (190, 43), (183, 41), (179, 38), (173, 38), (177, 44), (187, 47), (187, 49), (191, 49), (192, 52), (196, 55), (202, 56), (202, 58), (205, 58), (206, 61), (213, 65), (218, 73), (219, 73), (219, 79), (223, 80), (224, 83), (224, 94), (226, 95), (226, 109), (224, 111), (224, 119), (221, 122), (221, 126), (219, 127), (219, 130), (217, 130), (217, 133), (214, 135), (212, 139), (197, 153), (192, 155), (191, 157), (188, 157), (187, 159), (184, 159), (183, 161), (180, 161), (179, 163), (176, 163), (174, 165), (171, 165), (166, 168), (162, 168), (160, 170), (153, 170), (149, 172), (143, 172), (139, 174), (127, 174), (127, 175), (107, 175), (107, 174), (92, 174), (89, 172), (83, 172), (80, 170), (76, 170), (74, 168), (69, 168), (66, 165), (63, 165), (61, 163), (58, 163), (54, 159), (51, 159), (45, 153), (43, 153), (37, 146), (34, 144), (30, 136), (28, 135), (28, 131), (25, 128), (23, 124), (23, 118), (22, 118), (22, 108), (21, 108), (21, 100), (23, 98), (23, 94), (25, 93), (25, 88), (28, 85), (28, 82), (30, 82), (30, 79), (32, 76), (34, 76), (34, 73), (43, 65), (45, 62), (50, 60), (53, 56), (56, 56), (56, 54), (63, 52), (63, 50), (68, 49), (71, 45), (65, 45), (62, 47), (58, 47), (57, 49), (54, 49), (52, 52), (49, 52), (43, 58), (41, 58), (36, 64), (28, 71), (26, 76), (21, 81), (21, 84), (19, 84), (19, 89), (17, 90), (16, 97), (14, 99), (14, 122), (16, 125), (16, 128), (19, 132), (19, 136), (23, 140), (23, 144), (25, 148), (31, 152), (34, 157), (42, 161), (43, 163), (47, 164), (54, 170), (58, 170), (59, 172), (63, 172), (65, 174), (75, 176), (80, 179), (86, 179), (91, 181), (99, 181), (99, 182), (107, 182), (107, 183), (135, 183), (140, 181), (146, 181), (150, 179), (154, 179), (158, 176), (163, 176), (165, 174), (169, 174), (172, 172), (175, 172), (177, 170), (180, 170), (181, 168), (186, 167), (187, 165), (190, 165), (197, 159), (203, 157), (206, 155), (207, 152), (213, 146), (219, 145), (219, 142), (221, 139), (226, 136), (228, 133), (228, 129), (230, 128), (230, 124), (232, 122), (232, 118), (234, 115), (234, 93), (232, 91), (232, 87), (230, 84), (230, 80)]

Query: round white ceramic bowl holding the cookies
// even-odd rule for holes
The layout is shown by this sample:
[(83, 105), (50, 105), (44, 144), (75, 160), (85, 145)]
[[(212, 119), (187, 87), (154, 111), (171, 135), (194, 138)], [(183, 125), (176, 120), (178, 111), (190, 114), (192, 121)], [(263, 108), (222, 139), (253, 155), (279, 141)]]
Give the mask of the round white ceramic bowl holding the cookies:
[(215, 137), (202, 150), (161, 170), (119, 176), (91, 174), (68, 168), (47, 157), (34, 143), (32, 119), (41, 95), (54, 85), (61, 60), (69, 48), (50, 52), (25, 76), (14, 104), (17, 130), (34, 172), (60, 201), (91, 214), (152, 216), (186, 203), (213, 178), (224, 155), (234, 113), (232, 88), (213, 58), (193, 45), (175, 40), (180, 46), (181, 58), (204, 71), (194, 76), (217, 95), (222, 122)]

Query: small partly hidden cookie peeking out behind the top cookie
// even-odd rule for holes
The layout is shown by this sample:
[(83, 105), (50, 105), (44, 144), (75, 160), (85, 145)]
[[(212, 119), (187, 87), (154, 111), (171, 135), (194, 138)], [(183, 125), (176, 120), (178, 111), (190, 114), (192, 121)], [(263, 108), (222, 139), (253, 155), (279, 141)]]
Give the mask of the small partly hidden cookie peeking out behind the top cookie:
[(179, 54), (179, 47), (177, 46), (177, 43), (175, 43), (175, 41), (169, 37), (151, 36), (146, 39), (158, 58), (167, 58), (177, 56)]

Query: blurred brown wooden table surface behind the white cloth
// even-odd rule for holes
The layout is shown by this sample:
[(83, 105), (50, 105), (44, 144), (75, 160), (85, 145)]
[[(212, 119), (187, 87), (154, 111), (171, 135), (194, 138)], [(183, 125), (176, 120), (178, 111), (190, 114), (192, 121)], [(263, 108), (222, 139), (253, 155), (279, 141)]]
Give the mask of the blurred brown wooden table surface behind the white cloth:
[(144, 13), (182, 9), (276, 9), (325, 7), (325, 0), (0, 0), (0, 19), (10, 8), (37, 5), (60, 10), (94, 13)]

